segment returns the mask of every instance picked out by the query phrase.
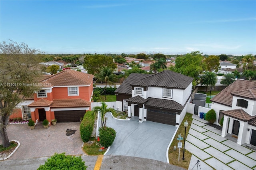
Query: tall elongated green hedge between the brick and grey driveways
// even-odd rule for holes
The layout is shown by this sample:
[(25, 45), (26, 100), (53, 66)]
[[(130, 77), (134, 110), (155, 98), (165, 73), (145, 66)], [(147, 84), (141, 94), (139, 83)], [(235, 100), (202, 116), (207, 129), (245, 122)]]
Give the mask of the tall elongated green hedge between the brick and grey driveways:
[(84, 118), (80, 125), (80, 135), (83, 142), (88, 142), (92, 136), (92, 131), (94, 127), (95, 116), (92, 111), (88, 111), (84, 114)]

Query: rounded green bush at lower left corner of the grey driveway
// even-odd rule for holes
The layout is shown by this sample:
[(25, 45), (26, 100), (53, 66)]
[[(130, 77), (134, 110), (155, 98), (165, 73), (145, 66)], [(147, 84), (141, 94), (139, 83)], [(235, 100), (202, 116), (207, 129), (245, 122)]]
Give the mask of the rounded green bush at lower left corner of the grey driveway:
[(100, 128), (100, 144), (104, 147), (112, 145), (116, 138), (116, 131), (110, 127)]

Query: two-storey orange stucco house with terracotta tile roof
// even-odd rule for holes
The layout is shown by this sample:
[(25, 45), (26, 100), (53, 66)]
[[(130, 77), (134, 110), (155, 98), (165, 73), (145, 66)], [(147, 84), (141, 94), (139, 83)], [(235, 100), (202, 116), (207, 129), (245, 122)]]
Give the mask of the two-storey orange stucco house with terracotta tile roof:
[(66, 69), (40, 81), (41, 89), (17, 105), (18, 116), (33, 121), (80, 121), (90, 110), (94, 75)]

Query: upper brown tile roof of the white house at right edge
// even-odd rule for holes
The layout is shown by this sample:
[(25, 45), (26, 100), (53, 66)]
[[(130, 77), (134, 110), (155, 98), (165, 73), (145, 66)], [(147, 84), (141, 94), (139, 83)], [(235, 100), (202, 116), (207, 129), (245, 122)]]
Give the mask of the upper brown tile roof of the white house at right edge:
[(252, 89), (255, 87), (256, 81), (238, 79), (234, 81), (234, 83), (226, 87), (224, 90), (222, 90), (220, 93), (218, 93), (216, 96), (214, 96), (210, 101), (232, 107), (233, 96), (231, 95), (231, 93), (243, 91), (246, 89)]

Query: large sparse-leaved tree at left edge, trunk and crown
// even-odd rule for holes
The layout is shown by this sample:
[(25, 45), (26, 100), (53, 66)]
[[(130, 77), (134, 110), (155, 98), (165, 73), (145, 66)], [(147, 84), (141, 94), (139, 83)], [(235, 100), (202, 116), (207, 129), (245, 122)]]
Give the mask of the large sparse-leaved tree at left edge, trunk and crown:
[(13, 109), (39, 88), (26, 84), (38, 83), (40, 79), (40, 52), (12, 40), (0, 43), (0, 137), (4, 147), (10, 146), (6, 126)]

